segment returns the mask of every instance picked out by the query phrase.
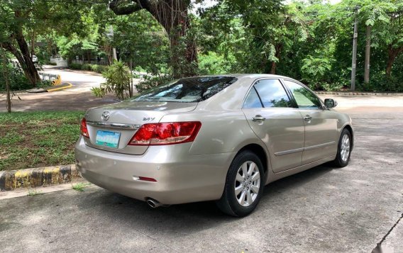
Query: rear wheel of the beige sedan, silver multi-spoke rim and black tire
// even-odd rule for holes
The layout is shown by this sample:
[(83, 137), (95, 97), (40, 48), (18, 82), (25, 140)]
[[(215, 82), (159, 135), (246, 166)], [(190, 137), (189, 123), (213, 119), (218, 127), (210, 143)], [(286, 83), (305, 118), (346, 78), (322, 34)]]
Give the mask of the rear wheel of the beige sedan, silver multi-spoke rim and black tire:
[(263, 194), (264, 179), (263, 164), (255, 153), (245, 150), (237, 154), (228, 169), (223, 195), (216, 205), (228, 215), (249, 215)]

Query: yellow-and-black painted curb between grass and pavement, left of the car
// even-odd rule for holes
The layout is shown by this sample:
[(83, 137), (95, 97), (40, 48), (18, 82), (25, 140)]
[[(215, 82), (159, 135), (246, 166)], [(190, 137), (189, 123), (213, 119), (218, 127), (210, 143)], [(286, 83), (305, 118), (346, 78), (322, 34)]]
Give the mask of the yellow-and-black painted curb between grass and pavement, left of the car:
[(75, 164), (0, 172), (0, 191), (70, 183), (79, 177)]

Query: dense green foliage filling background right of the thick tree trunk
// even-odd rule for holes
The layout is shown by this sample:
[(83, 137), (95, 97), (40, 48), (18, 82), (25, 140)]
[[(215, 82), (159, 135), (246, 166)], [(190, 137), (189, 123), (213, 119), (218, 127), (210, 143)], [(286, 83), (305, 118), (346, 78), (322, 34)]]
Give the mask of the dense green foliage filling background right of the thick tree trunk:
[[(355, 14), (356, 6), (360, 9)], [(342, 0), (338, 4), (221, 0), (194, 17), (201, 48), (199, 72), (275, 72), (301, 80), (312, 89), (348, 89), (356, 15), (358, 89), (400, 91), (402, 12), (403, 2), (395, 0)], [(368, 25), (372, 26), (371, 82), (364, 85)], [(391, 55), (393, 60), (388, 60)], [(390, 77), (385, 72), (388, 62), (393, 64)]]

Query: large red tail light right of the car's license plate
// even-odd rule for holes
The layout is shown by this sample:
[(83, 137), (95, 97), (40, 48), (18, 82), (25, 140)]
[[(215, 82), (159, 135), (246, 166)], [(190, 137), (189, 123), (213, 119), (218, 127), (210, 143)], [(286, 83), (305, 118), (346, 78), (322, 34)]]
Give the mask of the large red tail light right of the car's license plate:
[(170, 145), (192, 142), (201, 127), (198, 121), (142, 125), (128, 145)]

